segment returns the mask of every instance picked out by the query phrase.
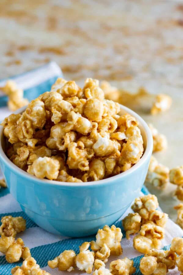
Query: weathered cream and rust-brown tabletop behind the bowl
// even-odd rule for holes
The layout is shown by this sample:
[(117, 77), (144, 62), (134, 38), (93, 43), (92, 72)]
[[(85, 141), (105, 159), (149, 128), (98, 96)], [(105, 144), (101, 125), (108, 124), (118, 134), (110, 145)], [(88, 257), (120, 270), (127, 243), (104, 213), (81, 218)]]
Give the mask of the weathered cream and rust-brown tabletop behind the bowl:
[[(170, 168), (183, 164), (183, 4), (178, 1), (1, 0), (0, 78), (56, 61), (68, 80), (108, 80), (131, 92), (144, 86), (167, 93), (171, 109), (147, 122), (167, 136), (156, 157)], [(156, 194), (176, 219), (171, 184)]]

